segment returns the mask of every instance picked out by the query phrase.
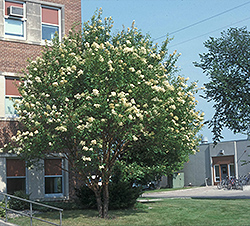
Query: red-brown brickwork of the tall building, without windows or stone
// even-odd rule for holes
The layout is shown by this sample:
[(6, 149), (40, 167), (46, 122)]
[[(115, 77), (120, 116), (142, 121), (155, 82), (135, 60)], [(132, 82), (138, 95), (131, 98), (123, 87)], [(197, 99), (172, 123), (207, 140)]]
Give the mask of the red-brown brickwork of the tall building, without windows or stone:
[[(65, 6), (64, 23), (65, 33), (75, 23), (81, 23), (81, 0), (47, 0), (47, 2), (57, 3)], [(80, 29), (79, 24), (76, 29)], [(27, 44), (18, 41), (0, 40), (0, 72), (22, 73), (27, 66), (27, 59), (34, 59), (40, 55), (41, 46)], [(3, 90), (0, 90), (0, 92)], [(17, 121), (0, 120), (0, 148), (10, 141), (18, 129)], [(69, 174), (69, 193), (70, 197), (75, 196), (75, 187), (79, 183), (75, 175)]]

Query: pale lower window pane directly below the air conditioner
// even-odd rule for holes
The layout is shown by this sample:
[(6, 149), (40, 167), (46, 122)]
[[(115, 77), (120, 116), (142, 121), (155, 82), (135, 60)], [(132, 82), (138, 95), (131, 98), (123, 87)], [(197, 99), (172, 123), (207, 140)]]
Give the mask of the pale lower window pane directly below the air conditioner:
[(5, 19), (5, 34), (24, 37), (23, 21)]

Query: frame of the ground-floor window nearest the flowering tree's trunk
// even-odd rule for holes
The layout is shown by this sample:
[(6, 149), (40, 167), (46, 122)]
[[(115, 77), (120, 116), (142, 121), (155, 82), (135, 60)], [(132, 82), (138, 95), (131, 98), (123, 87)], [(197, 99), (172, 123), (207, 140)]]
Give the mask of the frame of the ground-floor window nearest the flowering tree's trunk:
[[(65, 190), (64, 190), (64, 183), (65, 183), (65, 178), (64, 178), (64, 159), (63, 158), (47, 158), (48, 160), (61, 160), (61, 175), (46, 175), (45, 173), (45, 160), (44, 160), (44, 195), (46, 198), (52, 198), (52, 197), (63, 197)], [(46, 178), (61, 178), (62, 181), (62, 191), (60, 193), (46, 193)]]

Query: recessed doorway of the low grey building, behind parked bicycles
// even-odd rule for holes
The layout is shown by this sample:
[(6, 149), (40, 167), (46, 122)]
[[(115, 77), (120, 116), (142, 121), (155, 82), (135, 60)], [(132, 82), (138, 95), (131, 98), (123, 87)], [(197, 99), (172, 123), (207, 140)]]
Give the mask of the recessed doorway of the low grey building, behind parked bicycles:
[(214, 185), (227, 177), (235, 176), (234, 156), (213, 157)]

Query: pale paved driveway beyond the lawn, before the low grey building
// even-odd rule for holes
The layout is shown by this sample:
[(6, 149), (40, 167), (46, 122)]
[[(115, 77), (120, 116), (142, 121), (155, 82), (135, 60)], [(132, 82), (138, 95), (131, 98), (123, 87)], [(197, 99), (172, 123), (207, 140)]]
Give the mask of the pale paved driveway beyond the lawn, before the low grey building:
[(217, 199), (250, 199), (250, 189), (219, 190), (216, 186), (198, 187), (175, 191), (144, 193), (145, 198), (217, 198)]

